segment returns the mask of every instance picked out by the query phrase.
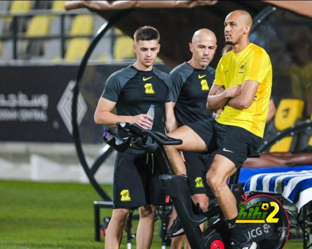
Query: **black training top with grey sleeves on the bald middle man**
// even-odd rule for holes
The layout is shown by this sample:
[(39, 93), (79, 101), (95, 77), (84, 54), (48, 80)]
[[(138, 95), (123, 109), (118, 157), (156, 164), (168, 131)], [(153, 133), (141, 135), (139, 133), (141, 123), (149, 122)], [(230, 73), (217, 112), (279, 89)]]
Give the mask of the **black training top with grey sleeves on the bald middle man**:
[(209, 66), (205, 70), (195, 69), (184, 62), (169, 75), (173, 83), (178, 125), (211, 118), (212, 113), (207, 110), (206, 103), (215, 79), (215, 69)]

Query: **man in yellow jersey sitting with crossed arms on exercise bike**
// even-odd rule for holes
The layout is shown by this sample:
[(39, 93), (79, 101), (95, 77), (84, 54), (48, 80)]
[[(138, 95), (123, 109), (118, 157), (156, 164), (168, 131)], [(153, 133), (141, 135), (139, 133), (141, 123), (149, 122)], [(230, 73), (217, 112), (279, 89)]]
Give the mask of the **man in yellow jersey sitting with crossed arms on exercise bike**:
[(227, 220), (231, 249), (255, 249), (257, 244), (235, 223), (236, 200), (226, 181), (261, 144), (271, 95), (272, 65), (264, 49), (249, 41), (252, 17), (248, 12), (231, 12), (224, 27), (226, 44), (232, 45), (233, 50), (222, 56), (207, 99), (210, 111), (224, 110), (215, 120), (191, 123), (169, 133), (183, 143), (165, 149), (177, 175), (186, 173), (180, 150), (215, 153), (206, 179)]

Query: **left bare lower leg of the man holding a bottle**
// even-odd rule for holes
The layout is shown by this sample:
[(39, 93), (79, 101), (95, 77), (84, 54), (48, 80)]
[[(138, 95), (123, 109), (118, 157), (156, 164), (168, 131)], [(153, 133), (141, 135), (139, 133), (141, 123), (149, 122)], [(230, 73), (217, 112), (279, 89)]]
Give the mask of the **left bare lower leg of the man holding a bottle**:
[(122, 232), (126, 224), (129, 209), (113, 209), (112, 218), (108, 224), (105, 236), (105, 249), (118, 249), (122, 239)]

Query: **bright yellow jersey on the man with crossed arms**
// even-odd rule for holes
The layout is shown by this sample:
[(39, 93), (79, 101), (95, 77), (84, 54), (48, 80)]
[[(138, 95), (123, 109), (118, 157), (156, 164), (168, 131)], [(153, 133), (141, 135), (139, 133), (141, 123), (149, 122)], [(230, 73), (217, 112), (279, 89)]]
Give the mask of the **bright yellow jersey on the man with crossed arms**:
[(220, 59), (213, 84), (228, 89), (248, 80), (259, 83), (252, 105), (247, 109), (225, 106), (216, 121), (242, 127), (263, 138), (272, 88), (272, 64), (266, 51), (253, 43), (239, 53), (230, 51)]

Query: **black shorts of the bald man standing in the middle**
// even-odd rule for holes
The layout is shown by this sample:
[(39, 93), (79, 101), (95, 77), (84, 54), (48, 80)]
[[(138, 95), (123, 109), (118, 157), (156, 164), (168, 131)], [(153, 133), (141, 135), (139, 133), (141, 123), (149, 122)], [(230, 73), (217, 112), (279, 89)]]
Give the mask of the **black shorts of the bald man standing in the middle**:
[(186, 174), (190, 181), (191, 195), (205, 194), (209, 186), (206, 182), (206, 173), (212, 163), (212, 155), (208, 153), (183, 152)]

